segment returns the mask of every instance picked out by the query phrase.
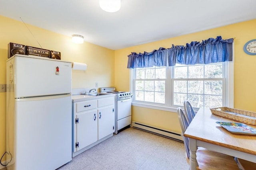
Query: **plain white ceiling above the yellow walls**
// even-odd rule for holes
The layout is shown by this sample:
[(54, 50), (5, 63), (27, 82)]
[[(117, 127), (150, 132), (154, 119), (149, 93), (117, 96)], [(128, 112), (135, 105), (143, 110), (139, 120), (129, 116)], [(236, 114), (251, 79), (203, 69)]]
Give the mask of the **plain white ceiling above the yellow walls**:
[(115, 13), (98, 0), (0, 0), (0, 15), (116, 50), (256, 19), (256, 0), (121, 0)]

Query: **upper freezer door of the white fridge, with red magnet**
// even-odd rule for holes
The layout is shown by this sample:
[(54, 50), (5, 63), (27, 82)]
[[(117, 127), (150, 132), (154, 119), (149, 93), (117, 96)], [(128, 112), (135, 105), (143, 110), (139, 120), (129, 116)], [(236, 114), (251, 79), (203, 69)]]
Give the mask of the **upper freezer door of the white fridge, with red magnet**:
[(8, 61), (15, 98), (71, 93), (71, 63), (41, 58), (16, 56), (14, 65)]

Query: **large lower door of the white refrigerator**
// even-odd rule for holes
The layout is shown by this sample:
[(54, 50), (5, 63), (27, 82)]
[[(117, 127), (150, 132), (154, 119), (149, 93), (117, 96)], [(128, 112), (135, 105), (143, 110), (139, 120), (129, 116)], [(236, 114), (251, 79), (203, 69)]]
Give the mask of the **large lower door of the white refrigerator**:
[(54, 170), (72, 159), (71, 95), (15, 102), (16, 170)]

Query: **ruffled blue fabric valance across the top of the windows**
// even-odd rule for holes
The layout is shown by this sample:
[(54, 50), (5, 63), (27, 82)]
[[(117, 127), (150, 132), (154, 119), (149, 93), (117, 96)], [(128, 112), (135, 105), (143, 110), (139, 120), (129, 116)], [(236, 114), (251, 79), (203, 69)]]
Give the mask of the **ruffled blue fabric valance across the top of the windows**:
[(137, 54), (132, 52), (128, 55), (127, 68), (174, 66), (176, 63), (194, 65), (232, 61), (233, 41), (233, 38), (223, 40), (221, 36), (218, 36), (216, 39), (209, 38), (201, 43), (192, 41), (186, 46), (172, 45), (168, 49), (161, 47), (150, 53)]

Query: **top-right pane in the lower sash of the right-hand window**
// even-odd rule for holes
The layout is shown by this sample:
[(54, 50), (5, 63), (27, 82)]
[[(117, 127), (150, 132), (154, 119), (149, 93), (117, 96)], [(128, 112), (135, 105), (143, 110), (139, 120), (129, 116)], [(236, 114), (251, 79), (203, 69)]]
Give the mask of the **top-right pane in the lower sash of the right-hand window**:
[(222, 81), (205, 81), (204, 94), (222, 95)]

